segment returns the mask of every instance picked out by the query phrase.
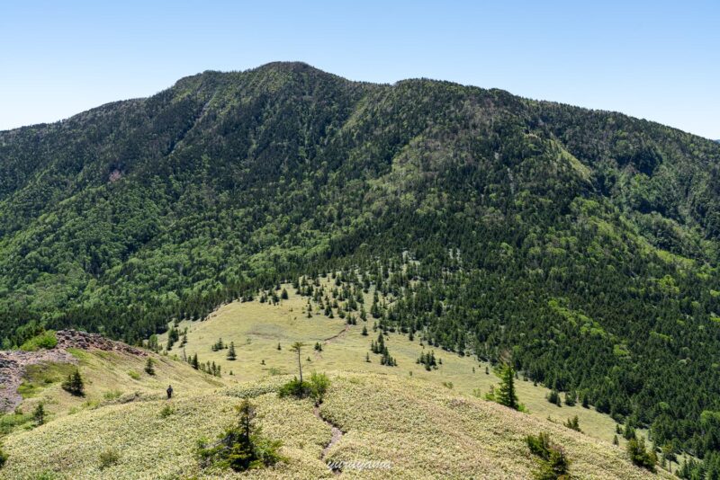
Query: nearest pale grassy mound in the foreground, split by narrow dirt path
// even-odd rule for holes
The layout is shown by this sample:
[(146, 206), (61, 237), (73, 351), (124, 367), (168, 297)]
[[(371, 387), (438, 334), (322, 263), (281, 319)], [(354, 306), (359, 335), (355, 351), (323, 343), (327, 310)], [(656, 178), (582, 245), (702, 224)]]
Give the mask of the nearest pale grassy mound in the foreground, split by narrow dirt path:
[[(377, 460), (386, 468), (349, 470), (348, 478), (527, 478), (534, 460), (524, 437), (549, 431), (572, 459), (578, 478), (644, 478), (625, 450), (497, 404), (460, 395), (418, 378), (379, 373), (331, 374), (332, 387), (321, 405), (325, 419), (344, 435), (326, 460)], [(330, 427), (313, 415), (309, 401), (278, 399), (262, 392), (281, 378), (196, 392), (166, 400), (139, 399), (49, 422), (5, 440), (10, 461), (2, 478), (193, 478), (243, 477), (202, 471), (193, 458), (195, 440), (213, 438), (232, 421), (238, 396), (254, 396), (260, 424), (282, 439), (287, 460), (245, 476), (332, 477), (320, 460)], [(262, 388), (258, 388), (262, 387)], [(257, 395), (260, 394), (260, 395)], [(161, 415), (169, 404), (172, 413)], [(117, 462), (101, 469), (100, 455), (113, 449)], [(664, 475), (664, 474), (661, 474)]]

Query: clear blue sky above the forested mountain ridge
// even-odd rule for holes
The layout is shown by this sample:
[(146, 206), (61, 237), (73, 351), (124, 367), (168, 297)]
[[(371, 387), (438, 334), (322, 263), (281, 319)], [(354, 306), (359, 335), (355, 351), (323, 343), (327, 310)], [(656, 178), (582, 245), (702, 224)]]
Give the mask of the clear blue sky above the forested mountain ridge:
[(302, 60), (623, 111), (720, 138), (720, 0), (3, 0), (0, 129)]

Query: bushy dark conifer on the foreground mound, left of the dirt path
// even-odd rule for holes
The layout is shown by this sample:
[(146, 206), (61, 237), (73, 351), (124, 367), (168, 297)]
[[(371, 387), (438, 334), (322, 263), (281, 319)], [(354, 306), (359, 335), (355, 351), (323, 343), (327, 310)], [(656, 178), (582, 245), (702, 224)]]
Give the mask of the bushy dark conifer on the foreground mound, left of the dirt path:
[(256, 426), (255, 407), (245, 399), (235, 407), (238, 423), (229, 426), (220, 440), (208, 446), (198, 441), (198, 457), (202, 467), (232, 468), (236, 472), (275, 465), (283, 458), (278, 453), (282, 443), (268, 440)]

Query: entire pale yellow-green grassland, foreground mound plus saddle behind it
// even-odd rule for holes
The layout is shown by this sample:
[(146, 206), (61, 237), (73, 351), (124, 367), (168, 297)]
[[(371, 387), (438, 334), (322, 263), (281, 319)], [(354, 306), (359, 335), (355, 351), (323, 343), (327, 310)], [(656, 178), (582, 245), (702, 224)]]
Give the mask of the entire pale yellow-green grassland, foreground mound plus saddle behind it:
[[(327, 285), (329, 279), (324, 281)], [(220, 364), (221, 378), (180, 360), (179, 342), (168, 355), (153, 354), (155, 376), (144, 371), (144, 358), (72, 351), (85, 378), (84, 398), (70, 396), (59, 385), (74, 367), (31, 369), (22, 408), (30, 412), (42, 402), (49, 422), (35, 428), (27, 422), (4, 438), (9, 460), (0, 478), (333, 477), (326, 460), (390, 462), (389, 470), (346, 468), (341, 476), (347, 478), (528, 478), (535, 460), (525, 437), (540, 431), (550, 432), (566, 450), (573, 478), (653, 477), (632, 466), (622, 444), (611, 444), (615, 422), (607, 415), (581, 406), (558, 408), (545, 400), (545, 388), (522, 379), (518, 396), (529, 413), (487, 402), (476, 396), (497, 384), (492, 372), (485, 373), (487, 365), (435, 349), (443, 363), (428, 372), (415, 361), (423, 349), (420, 335), (410, 342), (407, 336), (389, 334), (386, 344), (398, 367), (380, 365), (380, 357), (372, 353), (367, 363), (365, 354), (377, 337), (372, 316), (366, 323), (369, 335), (363, 336), (359, 318), (347, 326), (337, 311), (329, 318), (314, 304), (307, 318), (308, 299), (289, 285), (284, 288), (290, 298), (279, 305), (257, 299), (236, 302), (202, 322), (180, 324), (181, 330), (188, 328), (185, 355), (197, 353), (202, 362)], [(366, 295), (368, 312), (371, 302), (372, 295)], [(227, 350), (211, 350), (220, 337), (235, 342), (238, 360), (227, 360)], [(297, 372), (297, 356), (290, 350), (296, 341), (307, 344), (304, 372), (326, 372), (332, 380), (320, 414), (344, 434), (324, 459), (329, 422), (313, 414), (309, 400), (275, 395)], [(315, 342), (323, 343), (323, 351), (313, 350)], [(168, 384), (175, 387), (170, 401), (165, 399)], [(214, 439), (233, 422), (232, 407), (240, 396), (253, 398), (258, 423), (267, 437), (283, 441), (285, 460), (246, 474), (201, 469), (194, 454), (197, 440)], [(574, 415), (583, 433), (562, 425)], [(108, 451), (114, 462), (103, 467), (101, 454)]]

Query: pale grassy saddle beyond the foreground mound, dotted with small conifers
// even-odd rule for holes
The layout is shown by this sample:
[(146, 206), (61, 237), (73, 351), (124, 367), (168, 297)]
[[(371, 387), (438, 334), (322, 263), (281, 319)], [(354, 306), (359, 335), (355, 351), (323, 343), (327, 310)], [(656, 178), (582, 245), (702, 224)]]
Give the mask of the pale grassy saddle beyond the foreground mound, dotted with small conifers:
[[(325, 280), (326, 289), (328, 280)], [(302, 365), (305, 371), (353, 371), (392, 374), (399, 377), (428, 380), (436, 385), (452, 384), (453, 389), (465, 395), (473, 392), (484, 395), (490, 387), (498, 384), (490, 364), (480, 363), (470, 356), (461, 357), (456, 353), (437, 348), (420, 346), (419, 334), (410, 342), (407, 335), (390, 333), (386, 344), (393, 357), (398, 361), (397, 367), (385, 367), (380, 364), (380, 357), (370, 353), (371, 363), (365, 361), (365, 354), (370, 351), (370, 342), (377, 338), (373, 331), (374, 318), (368, 314), (365, 323), (368, 336), (363, 336), (363, 322), (358, 319), (356, 325), (348, 326), (347, 332), (337, 339), (323, 344), (323, 351), (313, 350), (315, 342), (322, 342), (345, 330), (345, 320), (328, 318), (321, 312), (313, 312), (307, 318), (304, 308), (308, 298), (295, 294), (291, 285), (284, 285), (289, 298), (281, 300), (279, 305), (252, 302), (234, 302), (220, 307), (208, 319), (200, 322), (181, 322), (180, 329), (188, 328), (188, 343), (184, 347), (186, 355), (197, 353), (202, 361), (214, 361), (222, 366), (223, 378), (238, 381), (253, 381), (274, 374), (297, 372), (297, 357), (289, 350), (292, 342), (304, 342), (306, 350), (302, 354)], [(372, 293), (372, 290), (371, 290)], [(365, 296), (365, 308), (369, 310), (372, 295)], [(212, 351), (212, 344), (222, 338), (223, 342), (235, 342), (238, 360), (226, 359), (227, 350)], [(161, 341), (165, 341), (161, 337)], [(278, 342), (283, 348), (277, 350)], [(182, 350), (175, 344), (171, 354), (182, 356)], [(425, 349), (434, 350), (437, 357), (443, 360), (439, 369), (427, 371), (416, 363), (420, 353)], [(307, 359), (311, 360), (308, 361)], [(262, 365), (265, 360), (265, 365)], [(485, 368), (490, 375), (485, 374)], [(473, 373), (473, 368), (475, 369)], [(229, 371), (233, 376), (229, 376)], [(600, 440), (612, 441), (616, 431), (616, 422), (608, 415), (597, 413), (594, 409), (583, 408), (578, 402), (575, 406), (557, 407), (550, 404), (545, 396), (548, 390), (534, 387), (532, 382), (523, 381), (522, 376), (516, 383), (520, 402), (527, 406), (530, 414), (542, 419), (548, 417), (555, 422), (565, 422), (568, 418), (578, 415), (582, 431)], [(624, 441), (620, 436), (621, 444)]]

